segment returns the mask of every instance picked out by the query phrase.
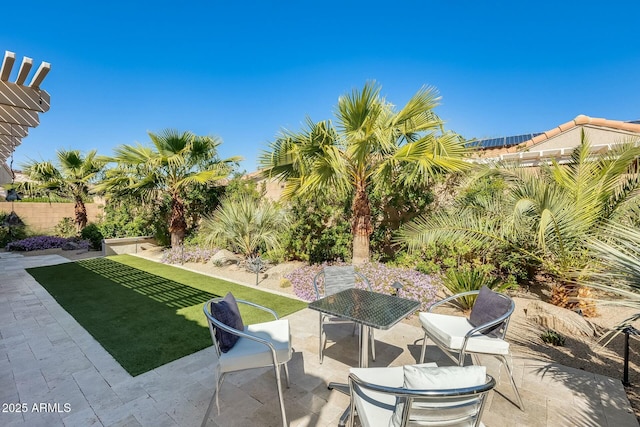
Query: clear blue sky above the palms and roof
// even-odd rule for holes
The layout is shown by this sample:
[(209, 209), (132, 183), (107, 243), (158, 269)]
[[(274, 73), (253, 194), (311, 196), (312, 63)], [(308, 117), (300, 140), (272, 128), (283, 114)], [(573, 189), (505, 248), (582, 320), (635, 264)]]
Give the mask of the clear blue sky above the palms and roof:
[[(112, 154), (166, 128), (256, 159), (282, 128), (333, 117), (376, 80), (423, 85), (466, 138), (540, 132), (578, 114), (640, 119), (640, 3), (41, 1), (3, 5), (0, 49), (51, 63), (51, 110), (15, 165), (60, 148)], [(13, 81), (12, 76), (11, 80)]]

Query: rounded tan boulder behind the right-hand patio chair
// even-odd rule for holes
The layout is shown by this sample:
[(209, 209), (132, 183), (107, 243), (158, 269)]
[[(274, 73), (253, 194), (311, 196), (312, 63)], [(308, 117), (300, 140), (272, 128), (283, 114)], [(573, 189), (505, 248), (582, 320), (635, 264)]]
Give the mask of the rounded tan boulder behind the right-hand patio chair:
[(565, 336), (593, 337), (596, 329), (580, 314), (542, 301), (533, 301), (525, 308), (527, 320)]

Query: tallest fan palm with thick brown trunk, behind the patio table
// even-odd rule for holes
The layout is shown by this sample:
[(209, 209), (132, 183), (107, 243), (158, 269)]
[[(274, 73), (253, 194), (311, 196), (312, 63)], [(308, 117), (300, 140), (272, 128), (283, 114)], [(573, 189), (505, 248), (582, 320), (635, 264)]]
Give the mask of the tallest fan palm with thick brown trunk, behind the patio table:
[(362, 263), (373, 231), (371, 188), (414, 185), (467, 168), (462, 138), (444, 132), (433, 112), (439, 99), (434, 88), (423, 87), (396, 111), (369, 82), (338, 99), (336, 127), (307, 119), (300, 132), (283, 130), (260, 165), (266, 176), (286, 182), (285, 198), (327, 191), (351, 196), (353, 262)]

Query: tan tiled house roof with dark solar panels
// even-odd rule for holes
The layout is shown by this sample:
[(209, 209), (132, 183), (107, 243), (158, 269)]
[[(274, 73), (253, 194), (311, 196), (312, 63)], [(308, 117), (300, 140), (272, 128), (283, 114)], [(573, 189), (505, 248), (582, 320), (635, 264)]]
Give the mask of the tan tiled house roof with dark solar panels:
[[(640, 120), (620, 121), (579, 115), (546, 132), (490, 138), (469, 143), (476, 159), (516, 160), (535, 165), (551, 158), (568, 158), (585, 131), (594, 151), (608, 151), (612, 145), (640, 137)], [(524, 164), (526, 165), (526, 164)]]

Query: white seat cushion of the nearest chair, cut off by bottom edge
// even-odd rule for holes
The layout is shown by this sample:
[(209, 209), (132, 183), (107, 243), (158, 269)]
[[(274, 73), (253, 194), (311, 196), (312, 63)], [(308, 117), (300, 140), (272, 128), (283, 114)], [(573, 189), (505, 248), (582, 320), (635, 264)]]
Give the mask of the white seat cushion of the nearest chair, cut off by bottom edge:
[[(435, 367), (435, 363), (424, 363), (416, 366)], [(349, 370), (362, 381), (386, 387), (402, 387), (404, 385), (404, 369), (402, 366), (390, 368), (351, 368)], [(396, 406), (395, 396), (363, 390), (365, 397), (355, 396), (356, 412), (363, 426), (387, 427)]]

